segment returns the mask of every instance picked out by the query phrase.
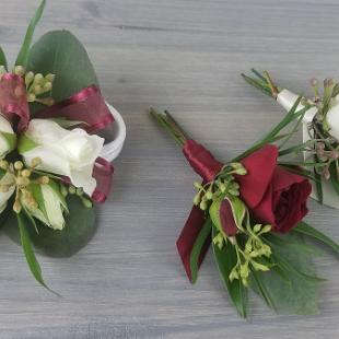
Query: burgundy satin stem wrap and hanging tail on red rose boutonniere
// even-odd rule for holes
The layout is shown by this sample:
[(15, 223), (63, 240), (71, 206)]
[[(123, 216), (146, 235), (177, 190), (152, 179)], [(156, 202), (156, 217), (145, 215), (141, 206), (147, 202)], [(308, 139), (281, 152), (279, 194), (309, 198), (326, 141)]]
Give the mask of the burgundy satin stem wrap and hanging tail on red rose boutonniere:
[[(201, 144), (197, 143), (195, 140), (187, 140), (183, 147), (183, 152), (190, 166), (199, 176), (201, 176), (203, 183), (213, 180), (215, 175), (223, 166), (223, 164), (215, 160), (215, 157), (207, 149), (204, 149)], [(195, 246), (196, 239), (204, 224), (204, 212), (198, 207), (194, 206), (185, 223), (185, 226), (176, 242), (179, 256), (185, 267), (187, 277), (190, 281), (190, 254)], [(209, 248), (210, 242), (211, 238), (209, 237), (203, 244), (198, 259), (199, 267)]]

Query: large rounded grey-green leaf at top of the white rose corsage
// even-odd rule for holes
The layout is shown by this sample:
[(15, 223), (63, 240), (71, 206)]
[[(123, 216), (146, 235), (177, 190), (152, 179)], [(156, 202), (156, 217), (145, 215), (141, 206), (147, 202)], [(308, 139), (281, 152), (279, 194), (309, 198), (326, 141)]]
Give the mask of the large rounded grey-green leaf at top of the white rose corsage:
[(98, 85), (86, 50), (68, 31), (52, 31), (43, 35), (30, 51), (27, 69), (56, 74), (51, 96), (57, 102), (89, 85)]

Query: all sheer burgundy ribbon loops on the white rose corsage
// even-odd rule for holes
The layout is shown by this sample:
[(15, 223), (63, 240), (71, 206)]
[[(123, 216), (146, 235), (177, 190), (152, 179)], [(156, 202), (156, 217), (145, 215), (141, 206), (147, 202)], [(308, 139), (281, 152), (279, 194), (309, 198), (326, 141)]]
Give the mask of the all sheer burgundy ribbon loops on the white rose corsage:
[[(30, 122), (30, 107), (23, 77), (5, 73), (0, 79), (0, 112), (16, 126), (19, 132), (24, 132)], [(92, 133), (114, 122), (114, 117), (108, 109), (101, 91), (95, 85), (90, 85), (69, 98), (59, 102), (35, 115), (36, 118), (63, 117), (70, 120), (82, 121), (80, 127)], [(79, 125), (78, 125), (79, 126)], [(93, 200), (104, 202), (112, 187), (114, 168), (109, 162), (98, 157), (94, 164), (93, 177), (96, 188)], [(69, 178), (65, 178), (69, 183)]]

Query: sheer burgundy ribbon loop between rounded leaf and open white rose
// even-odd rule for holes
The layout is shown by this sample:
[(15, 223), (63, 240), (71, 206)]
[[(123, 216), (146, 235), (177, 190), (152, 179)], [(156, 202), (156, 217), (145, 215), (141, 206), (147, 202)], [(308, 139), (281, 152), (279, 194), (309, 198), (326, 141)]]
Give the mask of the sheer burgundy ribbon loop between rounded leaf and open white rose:
[[(38, 112), (36, 118), (59, 118), (84, 121), (80, 127), (93, 133), (114, 122), (104, 97), (97, 86), (91, 85), (69, 98)], [(79, 127), (79, 125), (78, 125)]]

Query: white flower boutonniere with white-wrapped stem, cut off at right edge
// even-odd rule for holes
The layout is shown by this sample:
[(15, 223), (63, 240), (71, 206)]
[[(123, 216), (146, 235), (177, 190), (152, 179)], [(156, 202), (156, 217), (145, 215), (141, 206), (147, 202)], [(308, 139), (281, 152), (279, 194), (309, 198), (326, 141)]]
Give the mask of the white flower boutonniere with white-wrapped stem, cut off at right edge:
[[(242, 75), (285, 110), (291, 109), (297, 100), (295, 93), (273, 83), (268, 72), (261, 74), (253, 69), (253, 73), (254, 77)], [(313, 97), (303, 97), (297, 107), (306, 112), (297, 124), (302, 125), (303, 143), (295, 148), (295, 153), (303, 152), (308, 166), (313, 167), (312, 197), (339, 209), (339, 83), (326, 79), (320, 85), (312, 79), (311, 87)]]

